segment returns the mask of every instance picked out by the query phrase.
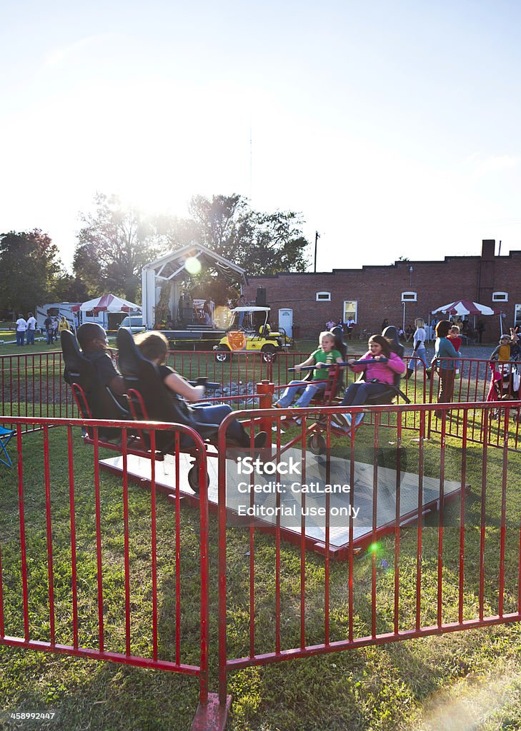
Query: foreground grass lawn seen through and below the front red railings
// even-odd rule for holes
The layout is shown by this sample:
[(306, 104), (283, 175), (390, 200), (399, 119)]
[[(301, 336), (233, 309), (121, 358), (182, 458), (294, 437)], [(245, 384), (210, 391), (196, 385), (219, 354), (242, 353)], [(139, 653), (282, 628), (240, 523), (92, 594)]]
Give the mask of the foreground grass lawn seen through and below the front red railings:
[[(369, 430), (368, 430), (369, 431)], [(360, 432), (356, 458), (367, 461), (370, 438)], [(291, 436), (291, 433), (290, 433)], [(383, 430), (382, 438), (387, 433)], [(409, 468), (418, 461), (418, 444), (405, 440)], [(391, 438), (391, 431), (389, 431)], [(50, 489), (53, 520), (53, 571), (56, 640), (72, 642), (71, 546), (67, 442), (61, 429), (49, 431)], [(48, 564), (45, 532), (45, 490), (42, 434), (23, 437), (23, 486), (26, 547), (29, 567), (31, 638), (50, 637)], [(439, 474), (439, 437), (425, 443), (425, 473)], [(345, 453), (334, 442), (334, 453)], [(476, 616), (479, 594), (479, 520), (481, 461), (479, 444), (468, 447), (466, 499), (464, 616)], [(460, 444), (447, 439), (446, 477), (460, 475)], [(520, 541), (521, 455), (509, 455), (506, 531), (505, 611), (517, 603)], [(75, 520), (78, 560), (78, 626), (80, 645), (96, 647), (97, 565), (94, 532), (93, 452), (74, 438)], [(498, 569), (503, 453), (488, 450), (487, 526), (484, 574), (484, 613), (498, 610)], [(102, 556), (105, 648), (124, 651), (124, 531), (121, 479), (102, 473)], [(130, 605), (132, 652), (151, 651), (151, 496), (137, 485), (128, 491), (130, 531)], [(162, 659), (175, 654), (175, 569), (173, 539), (175, 510), (157, 498), (157, 560), (159, 651)], [(457, 618), (460, 504), (446, 508), (443, 535), (443, 621)], [(198, 511), (183, 506), (181, 523), (181, 659), (198, 659)], [(21, 604), (18, 475), (0, 471), (0, 546), (7, 635), (23, 636)], [(416, 527), (400, 533), (400, 627), (411, 626), (416, 606)], [(229, 528), (228, 656), (247, 655), (249, 647), (249, 533)], [(370, 631), (372, 553), (354, 559), (355, 635)], [(427, 518), (423, 533), (421, 623), (435, 621), (438, 529)], [(274, 642), (273, 537), (255, 537), (255, 629), (257, 651), (270, 651)], [(282, 542), (282, 648), (299, 645), (299, 550)], [(394, 586), (394, 537), (378, 544), (377, 631), (391, 628)], [(210, 518), (210, 664), (211, 690), (217, 689), (217, 520)], [(331, 562), (331, 640), (345, 637), (348, 626), (348, 564)], [(313, 553), (306, 561), (306, 642), (323, 640), (324, 560)], [(345, 731), (416, 729), (511, 730), (521, 728), (521, 629), (518, 624), (495, 626), (373, 646), (310, 659), (251, 667), (230, 675), (233, 731)], [(10, 711), (56, 711), (40, 728), (184, 731), (190, 728), (197, 705), (198, 683), (172, 673), (124, 667), (108, 662), (0, 648), (0, 697)], [(6, 728), (15, 727), (6, 724)], [(19, 724), (22, 727), (22, 724)], [(24, 726), (25, 727), (25, 726)], [(36, 727), (36, 726), (35, 726)]]

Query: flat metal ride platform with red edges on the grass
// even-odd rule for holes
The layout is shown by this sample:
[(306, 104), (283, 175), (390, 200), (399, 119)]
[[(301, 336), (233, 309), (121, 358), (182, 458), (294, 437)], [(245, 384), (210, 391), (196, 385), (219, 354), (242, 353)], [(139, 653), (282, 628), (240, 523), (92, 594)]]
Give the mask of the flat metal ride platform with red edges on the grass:
[[(302, 463), (300, 449), (285, 452), (285, 460)], [(348, 558), (349, 533), (352, 516), (353, 548), (369, 545), (375, 539), (395, 531), (397, 523), (397, 482), (400, 487), (400, 527), (415, 523), (439, 509), (440, 479), (409, 471), (397, 472), (386, 466), (355, 462), (351, 486), (351, 462), (341, 458), (326, 460), (305, 452), (305, 477), (296, 474), (282, 477), (254, 471), (239, 474), (241, 460), (228, 459), (226, 508), (228, 524), (250, 526), (274, 534), (280, 526), (282, 539), (300, 545), (304, 529), (306, 546), (317, 553), (326, 553), (326, 515), (329, 515), (329, 556)], [(274, 463), (272, 463), (274, 464)], [(179, 494), (190, 504), (198, 504), (198, 496), (188, 485), (190, 456), (179, 455)], [(123, 473), (123, 458), (112, 457), (100, 461), (102, 469), (114, 474)], [(266, 468), (266, 465), (261, 469)], [(151, 461), (128, 455), (127, 474), (130, 480), (149, 488)], [(209, 509), (217, 512), (217, 459), (208, 459)], [(176, 458), (165, 455), (155, 463), (156, 489), (175, 499)], [(258, 491), (252, 488), (258, 485)], [(353, 495), (351, 496), (351, 488)], [(461, 482), (443, 481), (443, 500), (456, 499), (461, 493)], [(421, 492), (421, 501), (419, 501)], [(375, 506), (376, 501), (376, 506)], [(376, 508), (374, 510), (374, 508)], [(250, 512), (248, 512), (250, 510)]]

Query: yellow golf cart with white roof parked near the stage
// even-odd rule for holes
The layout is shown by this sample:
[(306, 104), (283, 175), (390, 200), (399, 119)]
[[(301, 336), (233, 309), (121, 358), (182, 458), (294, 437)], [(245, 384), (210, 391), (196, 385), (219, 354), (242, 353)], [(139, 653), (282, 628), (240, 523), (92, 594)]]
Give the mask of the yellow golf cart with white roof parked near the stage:
[(225, 363), (232, 353), (261, 352), (264, 360), (274, 360), (277, 352), (288, 348), (291, 339), (284, 330), (271, 331), (269, 307), (236, 307), (226, 335), (214, 346), (215, 359)]

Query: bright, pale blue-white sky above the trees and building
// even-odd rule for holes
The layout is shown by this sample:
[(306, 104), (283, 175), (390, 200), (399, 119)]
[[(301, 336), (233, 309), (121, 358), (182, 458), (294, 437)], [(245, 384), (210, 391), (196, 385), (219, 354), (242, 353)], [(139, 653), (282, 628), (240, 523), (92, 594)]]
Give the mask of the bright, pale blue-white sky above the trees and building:
[[(0, 10), (0, 232), (70, 268), (97, 192), (299, 211), (317, 270), (521, 249), (521, 4), (19, 0)], [(498, 249), (496, 249), (496, 253)]]

